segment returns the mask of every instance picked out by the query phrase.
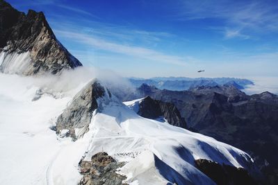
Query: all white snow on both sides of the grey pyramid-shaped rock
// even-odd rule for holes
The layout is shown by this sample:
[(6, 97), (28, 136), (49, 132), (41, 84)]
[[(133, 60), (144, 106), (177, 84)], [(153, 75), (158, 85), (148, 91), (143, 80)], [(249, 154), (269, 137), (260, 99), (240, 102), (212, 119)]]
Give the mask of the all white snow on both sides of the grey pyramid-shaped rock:
[(101, 151), (126, 161), (119, 173), (130, 184), (214, 184), (195, 168), (195, 159), (252, 166), (245, 152), (202, 134), (142, 118), (107, 93), (98, 99), (99, 110), (83, 138), (75, 142), (60, 138), (49, 127), (86, 81), (65, 86), (65, 91), (51, 89), (51, 94), (61, 96), (45, 94), (32, 101), (42, 88), (38, 80), (0, 74), (0, 184), (77, 184), (81, 158), (90, 160)]

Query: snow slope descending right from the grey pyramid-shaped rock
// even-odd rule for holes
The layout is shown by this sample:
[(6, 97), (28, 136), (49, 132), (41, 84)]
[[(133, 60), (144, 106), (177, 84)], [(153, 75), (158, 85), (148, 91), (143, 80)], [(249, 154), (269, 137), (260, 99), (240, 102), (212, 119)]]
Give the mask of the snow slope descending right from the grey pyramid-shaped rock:
[[(136, 168), (136, 174), (131, 174), (130, 168), (126, 166), (122, 170), (130, 177), (128, 182), (145, 184), (147, 177), (152, 179), (147, 170), (156, 168), (156, 173), (159, 171), (164, 179), (177, 184), (213, 184), (194, 167), (195, 159), (208, 159), (243, 168), (248, 168), (252, 163), (252, 159), (241, 150), (202, 134), (142, 118), (116, 98), (99, 100), (99, 103), (100, 113), (92, 118), (91, 132), (94, 133), (94, 139), (88, 148), (87, 159), (103, 150), (120, 161), (132, 162), (131, 171)], [(132, 158), (136, 155), (140, 157), (140, 154), (145, 157)], [(146, 170), (136, 166), (147, 161), (152, 165)], [(137, 174), (138, 169), (142, 170), (140, 174)]]

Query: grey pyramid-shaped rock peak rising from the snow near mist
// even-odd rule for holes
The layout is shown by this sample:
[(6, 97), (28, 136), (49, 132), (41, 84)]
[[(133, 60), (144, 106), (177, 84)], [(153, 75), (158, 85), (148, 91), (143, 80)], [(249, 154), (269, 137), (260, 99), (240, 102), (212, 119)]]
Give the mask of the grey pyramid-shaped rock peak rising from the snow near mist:
[(105, 89), (97, 80), (89, 82), (74, 96), (64, 112), (58, 116), (56, 122), (57, 134), (61, 134), (63, 130), (68, 130), (67, 135), (76, 139), (75, 129), (82, 129), (79, 136), (88, 132), (92, 113), (98, 108), (97, 99), (103, 97), (104, 94)]

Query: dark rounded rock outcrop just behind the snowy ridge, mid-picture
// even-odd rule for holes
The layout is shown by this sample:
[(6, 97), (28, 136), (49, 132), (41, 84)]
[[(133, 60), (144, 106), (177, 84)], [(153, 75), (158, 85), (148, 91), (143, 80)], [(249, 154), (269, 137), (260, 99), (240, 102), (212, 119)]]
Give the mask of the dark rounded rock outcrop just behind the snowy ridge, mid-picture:
[(172, 103), (154, 100), (149, 96), (140, 101), (138, 114), (152, 119), (162, 116), (171, 125), (186, 128), (186, 121), (184, 121), (184, 118), (181, 118), (177, 107)]

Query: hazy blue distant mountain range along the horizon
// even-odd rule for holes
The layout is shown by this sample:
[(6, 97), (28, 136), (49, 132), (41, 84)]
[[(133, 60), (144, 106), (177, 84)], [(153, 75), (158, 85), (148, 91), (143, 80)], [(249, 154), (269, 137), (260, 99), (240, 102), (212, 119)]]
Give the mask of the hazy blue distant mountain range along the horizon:
[(155, 86), (158, 89), (172, 91), (183, 91), (195, 87), (214, 87), (217, 85), (233, 85), (237, 89), (245, 89), (247, 85), (254, 85), (254, 82), (240, 78), (186, 78), (186, 77), (155, 77), (155, 78), (129, 78), (134, 87), (142, 84)]

